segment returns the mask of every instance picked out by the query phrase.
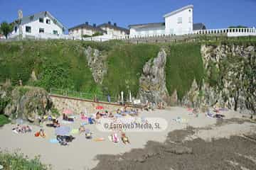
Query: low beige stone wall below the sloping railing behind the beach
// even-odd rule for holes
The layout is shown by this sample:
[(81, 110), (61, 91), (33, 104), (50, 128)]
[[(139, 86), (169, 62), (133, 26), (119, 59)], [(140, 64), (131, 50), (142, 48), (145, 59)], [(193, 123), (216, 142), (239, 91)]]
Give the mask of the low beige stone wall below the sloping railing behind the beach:
[[(53, 105), (58, 109), (60, 113), (63, 112), (64, 109), (70, 109), (75, 114), (79, 114), (81, 112), (87, 111), (87, 113), (97, 113), (97, 106), (103, 106), (102, 111), (116, 111), (118, 108), (121, 108), (119, 104), (115, 103), (107, 103), (107, 102), (93, 102), (80, 98), (70, 98), (66, 96), (57, 96), (50, 95), (50, 98), (53, 101)], [(128, 106), (128, 108), (135, 108), (133, 106)]]

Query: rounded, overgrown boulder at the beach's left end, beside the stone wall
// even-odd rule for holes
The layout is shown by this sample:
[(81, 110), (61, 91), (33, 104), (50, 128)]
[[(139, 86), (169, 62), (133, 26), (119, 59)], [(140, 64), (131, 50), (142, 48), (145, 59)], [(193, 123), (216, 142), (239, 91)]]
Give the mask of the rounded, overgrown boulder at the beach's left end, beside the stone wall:
[(10, 118), (22, 118), (34, 123), (38, 116), (48, 114), (52, 106), (53, 102), (46, 90), (18, 86), (11, 92), (11, 101), (4, 109), (4, 114)]

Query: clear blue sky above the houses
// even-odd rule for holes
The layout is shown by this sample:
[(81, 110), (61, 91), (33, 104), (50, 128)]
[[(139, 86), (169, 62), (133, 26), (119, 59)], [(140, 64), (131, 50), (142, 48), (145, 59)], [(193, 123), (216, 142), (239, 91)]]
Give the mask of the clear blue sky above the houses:
[(49, 11), (66, 28), (86, 21), (90, 24), (130, 24), (164, 22), (164, 14), (193, 4), (193, 23), (206, 28), (228, 26), (256, 27), (256, 0), (0, 0), (0, 22), (12, 22), (23, 16)]

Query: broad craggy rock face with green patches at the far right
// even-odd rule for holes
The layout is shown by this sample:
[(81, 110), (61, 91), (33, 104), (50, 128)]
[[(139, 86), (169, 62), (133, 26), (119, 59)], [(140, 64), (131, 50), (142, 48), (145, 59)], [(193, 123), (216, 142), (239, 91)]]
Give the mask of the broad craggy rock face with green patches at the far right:
[[(201, 89), (193, 85), (186, 101), (230, 108), (240, 113), (256, 113), (256, 47), (246, 45), (202, 45), (201, 54), (208, 82)], [(189, 98), (191, 92), (198, 93)]]

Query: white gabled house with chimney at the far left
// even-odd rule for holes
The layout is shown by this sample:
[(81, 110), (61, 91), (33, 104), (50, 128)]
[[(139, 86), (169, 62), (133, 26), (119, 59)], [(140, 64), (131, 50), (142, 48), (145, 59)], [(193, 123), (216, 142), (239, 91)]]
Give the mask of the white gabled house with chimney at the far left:
[(64, 38), (65, 26), (48, 11), (23, 17), (18, 12), (11, 38)]

